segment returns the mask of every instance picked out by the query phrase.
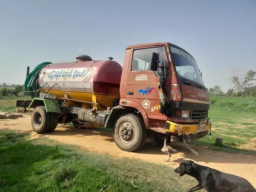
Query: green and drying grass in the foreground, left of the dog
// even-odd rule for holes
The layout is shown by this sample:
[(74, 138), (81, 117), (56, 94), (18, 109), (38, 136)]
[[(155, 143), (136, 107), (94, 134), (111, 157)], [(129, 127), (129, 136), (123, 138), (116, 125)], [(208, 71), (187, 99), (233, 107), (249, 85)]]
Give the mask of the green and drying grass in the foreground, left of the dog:
[(196, 184), (172, 168), (91, 154), (78, 146), (0, 131), (1, 192), (183, 192)]

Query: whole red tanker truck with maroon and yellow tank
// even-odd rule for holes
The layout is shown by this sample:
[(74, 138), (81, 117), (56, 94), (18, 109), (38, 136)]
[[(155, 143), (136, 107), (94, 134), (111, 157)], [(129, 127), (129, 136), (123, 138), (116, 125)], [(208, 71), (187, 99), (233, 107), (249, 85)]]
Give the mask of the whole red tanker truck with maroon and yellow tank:
[(112, 57), (44, 62), (27, 70), (25, 90), (33, 100), (31, 124), (38, 134), (57, 124), (96, 124), (113, 130), (116, 145), (132, 152), (147, 137), (189, 142), (211, 130), (209, 97), (196, 60), (168, 42), (126, 47), (123, 67)]

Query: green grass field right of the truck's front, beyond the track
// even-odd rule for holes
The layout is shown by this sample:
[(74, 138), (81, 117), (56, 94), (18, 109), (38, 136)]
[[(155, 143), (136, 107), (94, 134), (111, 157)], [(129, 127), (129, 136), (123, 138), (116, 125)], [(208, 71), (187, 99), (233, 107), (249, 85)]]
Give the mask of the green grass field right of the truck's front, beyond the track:
[[(208, 117), (212, 120), (212, 136), (193, 141), (213, 150), (256, 154), (256, 98), (211, 98)], [(224, 147), (215, 146), (222, 137)]]

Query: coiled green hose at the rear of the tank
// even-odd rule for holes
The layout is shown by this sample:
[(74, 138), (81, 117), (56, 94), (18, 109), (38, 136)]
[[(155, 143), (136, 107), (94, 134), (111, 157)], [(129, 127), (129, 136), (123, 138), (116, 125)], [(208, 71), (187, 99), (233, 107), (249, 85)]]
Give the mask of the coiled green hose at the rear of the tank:
[(38, 79), (38, 74), (44, 68), (46, 65), (51, 64), (52, 62), (43, 62), (40, 63), (38, 66), (36, 66), (32, 72), (28, 74), (26, 77), (26, 80), (24, 82), (24, 87), (26, 92), (34, 98), (37, 94), (37, 90), (40, 88), (37, 79)]

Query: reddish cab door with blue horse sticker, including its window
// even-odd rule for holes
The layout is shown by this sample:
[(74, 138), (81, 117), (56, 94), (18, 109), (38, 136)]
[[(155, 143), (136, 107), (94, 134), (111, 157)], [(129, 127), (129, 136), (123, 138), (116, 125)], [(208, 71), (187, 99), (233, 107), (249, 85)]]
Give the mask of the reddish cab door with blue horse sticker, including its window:
[[(159, 66), (165, 63), (169, 66), (168, 57), (164, 46), (138, 48), (132, 51), (132, 62), (127, 71), (126, 100), (133, 100), (140, 104), (146, 111), (148, 118), (167, 120), (167, 116), (160, 113), (158, 93), (158, 71), (150, 70), (153, 52), (159, 53)], [(170, 67), (166, 71), (170, 74)], [(166, 78), (166, 92), (169, 93), (170, 75)]]

